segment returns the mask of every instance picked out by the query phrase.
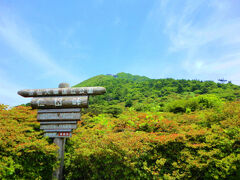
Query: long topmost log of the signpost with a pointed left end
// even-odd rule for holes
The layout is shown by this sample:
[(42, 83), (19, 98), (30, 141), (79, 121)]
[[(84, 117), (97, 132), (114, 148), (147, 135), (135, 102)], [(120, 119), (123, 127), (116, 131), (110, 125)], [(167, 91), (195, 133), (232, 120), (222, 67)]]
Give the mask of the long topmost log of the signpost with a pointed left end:
[(24, 89), (18, 91), (23, 97), (44, 96), (77, 96), (77, 95), (100, 95), (104, 94), (104, 87), (76, 87), (76, 88), (49, 88), (49, 89)]

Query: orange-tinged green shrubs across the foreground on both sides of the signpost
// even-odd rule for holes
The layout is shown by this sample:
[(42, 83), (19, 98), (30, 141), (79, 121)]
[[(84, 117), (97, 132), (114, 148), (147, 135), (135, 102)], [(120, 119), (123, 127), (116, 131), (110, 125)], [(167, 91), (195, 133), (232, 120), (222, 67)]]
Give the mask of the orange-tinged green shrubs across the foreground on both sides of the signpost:
[[(184, 103), (191, 113), (83, 115), (67, 141), (65, 179), (239, 179), (240, 102)], [(0, 127), (0, 179), (51, 179), (56, 147), (42, 137), (36, 111), (1, 105)]]

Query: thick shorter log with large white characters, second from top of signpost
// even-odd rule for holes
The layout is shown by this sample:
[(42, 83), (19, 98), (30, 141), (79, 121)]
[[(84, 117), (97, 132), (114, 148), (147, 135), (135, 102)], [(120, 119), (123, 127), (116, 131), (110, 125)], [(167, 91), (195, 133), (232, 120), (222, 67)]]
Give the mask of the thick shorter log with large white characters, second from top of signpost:
[(31, 106), (33, 109), (87, 108), (88, 96), (33, 98)]

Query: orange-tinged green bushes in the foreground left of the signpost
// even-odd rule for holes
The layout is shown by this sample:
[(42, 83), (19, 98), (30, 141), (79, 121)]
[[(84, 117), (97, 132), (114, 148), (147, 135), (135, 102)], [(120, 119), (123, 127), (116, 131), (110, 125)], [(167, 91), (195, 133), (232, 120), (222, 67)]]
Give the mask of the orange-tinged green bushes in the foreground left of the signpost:
[(39, 132), (36, 111), (0, 105), (0, 179), (51, 179), (56, 151)]

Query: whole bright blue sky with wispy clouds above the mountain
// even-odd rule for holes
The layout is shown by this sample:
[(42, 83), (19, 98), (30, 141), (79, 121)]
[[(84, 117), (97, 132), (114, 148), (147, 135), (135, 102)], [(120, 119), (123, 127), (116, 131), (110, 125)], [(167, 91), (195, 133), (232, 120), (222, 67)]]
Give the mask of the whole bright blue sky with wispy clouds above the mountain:
[(0, 103), (99, 74), (240, 84), (239, 0), (0, 1)]

